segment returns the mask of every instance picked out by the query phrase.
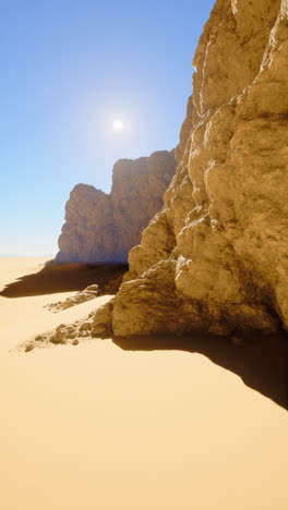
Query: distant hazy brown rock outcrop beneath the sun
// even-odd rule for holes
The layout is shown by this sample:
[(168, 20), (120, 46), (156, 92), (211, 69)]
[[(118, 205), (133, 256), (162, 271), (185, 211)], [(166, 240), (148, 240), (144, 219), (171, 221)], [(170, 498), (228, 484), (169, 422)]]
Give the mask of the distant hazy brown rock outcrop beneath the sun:
[(57, 263), (127, 262), (142, 230), (163, 206), (176, 172), (173, 153), (166, 150), (136, 160), (120, 159), (113, 167), (110, 195), (77, 184), (65, 206)]

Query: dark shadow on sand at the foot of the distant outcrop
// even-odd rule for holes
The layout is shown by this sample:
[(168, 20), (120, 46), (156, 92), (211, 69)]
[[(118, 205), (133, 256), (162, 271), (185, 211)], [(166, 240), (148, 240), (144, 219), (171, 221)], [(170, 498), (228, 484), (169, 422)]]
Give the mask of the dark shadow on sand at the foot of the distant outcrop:
[[(38, 272), (25, 275), (8, 283), (0, 295), (24, 298), (73, 292), (93, 283), (97, 283), (104, 293), (106, 286), (110, 284), (109, 293), (116, 293), (127, 270), (127, 264), (48, 264)], [(113, 282), (115, 284), (111, 284)]]

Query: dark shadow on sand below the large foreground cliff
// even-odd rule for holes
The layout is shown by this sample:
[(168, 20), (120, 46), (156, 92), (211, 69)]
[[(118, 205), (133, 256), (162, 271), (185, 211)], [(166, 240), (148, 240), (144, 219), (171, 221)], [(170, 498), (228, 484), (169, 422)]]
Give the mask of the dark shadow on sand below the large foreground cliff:
[(193, 333), (183, 337), (115, 337), (125, 351), (177, 350), (199, 353), (241, 377), (245, 386), (288, 410), (288, 339), (251, 336), (241, 345), (229, 338)]

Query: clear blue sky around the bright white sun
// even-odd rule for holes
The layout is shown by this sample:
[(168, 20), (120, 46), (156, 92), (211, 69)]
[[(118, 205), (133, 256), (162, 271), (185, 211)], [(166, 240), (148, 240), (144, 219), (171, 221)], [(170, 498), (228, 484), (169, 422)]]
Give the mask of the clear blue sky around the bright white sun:
[(177, 145), (213, 4), (2, 0), (0, 254), (53, 255), (76, 183)]

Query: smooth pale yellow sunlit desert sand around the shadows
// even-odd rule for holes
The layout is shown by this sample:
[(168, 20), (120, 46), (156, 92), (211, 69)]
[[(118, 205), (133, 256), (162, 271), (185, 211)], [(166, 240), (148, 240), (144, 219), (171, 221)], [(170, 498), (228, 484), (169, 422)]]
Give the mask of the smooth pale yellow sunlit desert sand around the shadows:
[[(40, 269), (0, 258), (0, 286)], [(3, 510), (284, 510), (288, 413), (196, 353), (17, 345), (85, 316), (0, 298)]]

